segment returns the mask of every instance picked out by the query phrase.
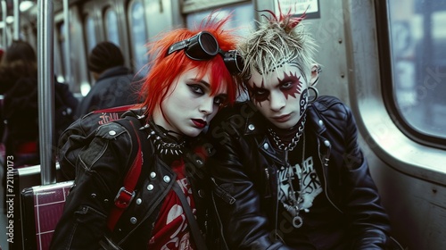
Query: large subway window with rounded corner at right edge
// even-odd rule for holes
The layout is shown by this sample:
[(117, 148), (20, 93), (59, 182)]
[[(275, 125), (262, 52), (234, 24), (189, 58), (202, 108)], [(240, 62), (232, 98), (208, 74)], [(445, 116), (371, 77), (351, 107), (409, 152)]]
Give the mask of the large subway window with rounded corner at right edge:
[(446, 1), (389, 0), (393, 97), (409, 127), (446, 138)]

